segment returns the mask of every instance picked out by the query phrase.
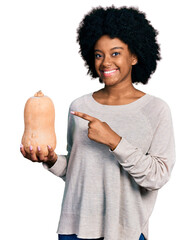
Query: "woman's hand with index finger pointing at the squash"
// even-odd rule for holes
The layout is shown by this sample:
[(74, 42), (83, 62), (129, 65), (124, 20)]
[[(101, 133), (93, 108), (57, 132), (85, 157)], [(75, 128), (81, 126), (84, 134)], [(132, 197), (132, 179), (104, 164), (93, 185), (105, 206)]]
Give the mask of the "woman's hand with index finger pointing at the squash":
[(88, 123), (88, 137), (91, 140), (107, 145), (111, 150), (114, 150), (119, 144), (121, 137), (114, 132), (106, 122), (102, 122), (97, 118), (89, 116), (81, 112), (71, 113), (77, 117), (83, 118)]

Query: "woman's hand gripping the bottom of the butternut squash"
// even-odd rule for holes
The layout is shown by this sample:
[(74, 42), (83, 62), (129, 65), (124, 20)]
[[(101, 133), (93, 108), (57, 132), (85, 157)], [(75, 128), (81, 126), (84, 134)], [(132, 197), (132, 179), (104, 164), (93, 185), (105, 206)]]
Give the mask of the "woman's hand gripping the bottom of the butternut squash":
[(57, 154), (54, 152), (53, 148), (50, 146), (48, 147), (48, 156), (44, 156), (40, 147), (37, 148), (37, 154), (33, 150), (32, 146), (29, 147), (30, 153), (26, 152), (24, 146), (21, 144), (20, 151), (23, 157), (31, 160), (32, 162), (43, 162), (51, 168), (55, 162), (57, 161)]

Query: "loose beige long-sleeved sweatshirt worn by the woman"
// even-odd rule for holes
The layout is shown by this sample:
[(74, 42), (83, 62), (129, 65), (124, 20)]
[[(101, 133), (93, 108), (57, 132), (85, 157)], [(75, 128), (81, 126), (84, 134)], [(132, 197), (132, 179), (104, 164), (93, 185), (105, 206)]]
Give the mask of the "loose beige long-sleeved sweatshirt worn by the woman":
[(69, 110), (106, 122), (122, 139), (111, 151), (88, 138), (88, 121), (69, 113), (68, 153), (48, 169), (65, 181), (57, 232), (105, 240), (138, 240), (143, 233), (148, 239), (158, 189), (175, 161), (168, 105), (149, 94), (126, 105), (102, 105), (90, 93)]

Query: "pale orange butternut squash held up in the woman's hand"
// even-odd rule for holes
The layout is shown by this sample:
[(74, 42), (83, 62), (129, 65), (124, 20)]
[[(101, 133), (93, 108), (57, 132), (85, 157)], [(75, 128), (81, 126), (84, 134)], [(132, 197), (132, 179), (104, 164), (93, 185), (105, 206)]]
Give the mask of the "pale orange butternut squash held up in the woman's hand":
[(38, 152), (40, 146), (44, 156), (48, 155), (47, 145), (56, 148), (55, 109), (52, 100), (39, 91), (27, 100), (24, 108), (24, 134), (22, 144), (26, 152), (29, 147)]

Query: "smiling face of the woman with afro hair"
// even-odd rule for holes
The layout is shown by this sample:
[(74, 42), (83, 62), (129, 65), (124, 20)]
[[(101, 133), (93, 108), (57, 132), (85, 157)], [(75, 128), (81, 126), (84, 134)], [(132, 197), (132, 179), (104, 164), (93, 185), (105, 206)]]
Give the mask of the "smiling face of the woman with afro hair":
[(137, 57), (119, 38), (102, 36), (94, 46), (94, 55), (96, 72), (105, 85), (131, 82), (132, 65), (137, 63)]

